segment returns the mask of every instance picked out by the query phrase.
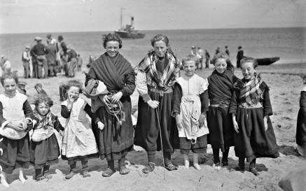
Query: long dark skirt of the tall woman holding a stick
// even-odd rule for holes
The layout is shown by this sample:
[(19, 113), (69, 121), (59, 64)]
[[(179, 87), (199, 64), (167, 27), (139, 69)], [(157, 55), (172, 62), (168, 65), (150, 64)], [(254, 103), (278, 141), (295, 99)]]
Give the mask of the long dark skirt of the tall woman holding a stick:
[[(156, 150), (173, 153), (174, 149), (179, 148), (179, 133), (175, 119), (171, 116), (173, 92), (164, 93), (162, 97), (157, 92), (149, 92), (148, 94), (152, 100), (157, 100), (160, 104), (158, 108), (153, 109), (139, 97), (134, 144), (152, 154)], [(158, 124), (160, 124), (162, 134), (162, 147)]]

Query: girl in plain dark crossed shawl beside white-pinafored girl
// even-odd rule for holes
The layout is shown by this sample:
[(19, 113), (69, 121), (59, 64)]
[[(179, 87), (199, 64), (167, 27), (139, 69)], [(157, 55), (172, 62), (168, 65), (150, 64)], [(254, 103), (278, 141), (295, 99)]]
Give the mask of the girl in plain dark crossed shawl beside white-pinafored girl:
[(219, 150), (223, 153), (222, 167), (228, 166), (228, 152), (234, 146), (234, 127), (228, 113), (228, 106), (234, 91), (233, 84), (237, 77), (233, 74), (234, 67), (225, 53), (214, 57), (215, 70), (207, 78), (209, 94), (209, 111), (207, 124), (209, 128), (208, 142), (214, 153), (214, 169), (221, 169)]

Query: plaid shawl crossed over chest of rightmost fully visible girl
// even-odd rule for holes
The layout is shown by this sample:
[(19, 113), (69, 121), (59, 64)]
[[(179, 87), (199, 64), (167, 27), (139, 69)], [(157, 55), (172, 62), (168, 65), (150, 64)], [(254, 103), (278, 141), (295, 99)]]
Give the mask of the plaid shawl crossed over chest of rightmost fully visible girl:
[(246, 103), (248, 106), (252, 106), (258, 104), (263, 99), (263, 92), (267, 85), (260, 78), (260, 74), (258, 74), (253, 80), (249, 80), (249, 82), (244, 78), (237, 80), (234, 87), (240, 90), (240, 104)]

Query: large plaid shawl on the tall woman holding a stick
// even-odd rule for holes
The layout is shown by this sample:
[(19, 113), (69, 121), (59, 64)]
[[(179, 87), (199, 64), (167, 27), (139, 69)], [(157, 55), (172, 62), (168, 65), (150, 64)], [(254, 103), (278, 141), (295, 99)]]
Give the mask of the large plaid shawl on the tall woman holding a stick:
[(144, 59), (139, 63), (139, 71), (146, 73), (146, 83), (153, 87), (158, 87), (162, 90), (168, 90), (176, 82), (176, 78), (179, 77), (179, 62), (174, 55), (166, 52), (165, 59), (169, 60), (169, 64), (164, 69), (163, 73), (156, 69), (156, 63), (158, 62), (158, 55), (154, 51), (149, 52)]

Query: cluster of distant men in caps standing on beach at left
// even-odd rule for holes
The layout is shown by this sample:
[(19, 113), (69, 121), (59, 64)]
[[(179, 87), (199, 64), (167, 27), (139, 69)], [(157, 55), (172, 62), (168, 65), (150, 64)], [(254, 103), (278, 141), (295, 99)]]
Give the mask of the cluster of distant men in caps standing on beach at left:
[(76, 71), (81, 71), (83, 60), (71, 45), (64, 41), (63, 36), (58, 36), (58, 41), (48, 34), (47, 45), (42, 43), (43, 38), (36, 36), (35, 45), (25, 47), (22, 52), (22, 64), (24, 77), (31, 78), (30, 61), (32, 60), (32, 78), (47, 78), (57, 76), (57, 73), (64, 70), (65, 76), (74, 77)]

